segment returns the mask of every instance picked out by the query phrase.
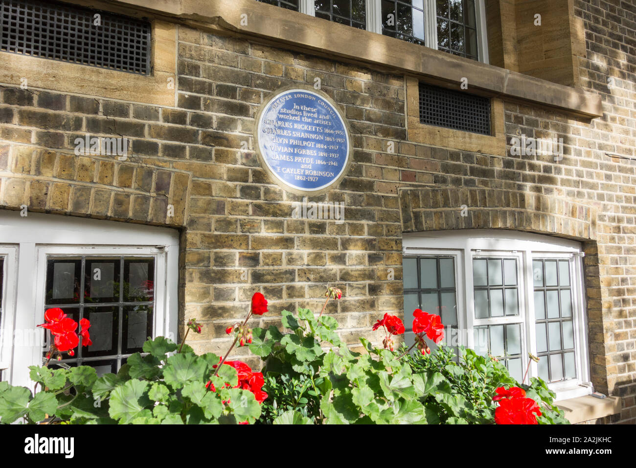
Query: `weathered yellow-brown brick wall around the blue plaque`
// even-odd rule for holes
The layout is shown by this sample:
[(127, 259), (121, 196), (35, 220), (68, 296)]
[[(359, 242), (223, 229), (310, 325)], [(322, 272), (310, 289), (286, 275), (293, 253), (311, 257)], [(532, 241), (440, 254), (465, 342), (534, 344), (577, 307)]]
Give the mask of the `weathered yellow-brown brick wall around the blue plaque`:
[[(505, 104), (508, 140), (563, 138), (558, 162), (461, 152), (452, 141), (411, 143), (403, 76), (179, 26), (175, 108), (0, 89), (0, 204), (179, 227), (179, 318), (204, 323), (188, 343), (216, 353), (229, 346), (225, 328), (245, 315), (255, 290), (270, 301), (272, 313), (254, 321), (263, 326), (279, 322), (283, 308), (321, 308), (327, 285), (340, 287), (344, 297), (328, 313), (343, 339), (371, 337), (385, 312), (403, 313), (405, 230), (508, 227), (579, 239), (595, 385), (623, 396), (620, 418), (636, 422), (636, 163), (604, 154), (636, 157), (635, 28), (622, 5), (576, 3), (588, 34), (581, 83), (602, 94), (603, 118)], [(611, 92), (608, 75), (618, 83)], [(301, 198), (275, 185), (253, 151), (259, 104), (279, 87), (315, 78), (352, 129), (349, 173), (310, 199), (345, 202), (342, 224), (293, 219)], [(133, 155), (78, 157), (74, 139), (86, 133), (125, 136)], [(470, 225), (460, 219), (462, 204)], [(234, 355), (259, 365), (247, 348)]]

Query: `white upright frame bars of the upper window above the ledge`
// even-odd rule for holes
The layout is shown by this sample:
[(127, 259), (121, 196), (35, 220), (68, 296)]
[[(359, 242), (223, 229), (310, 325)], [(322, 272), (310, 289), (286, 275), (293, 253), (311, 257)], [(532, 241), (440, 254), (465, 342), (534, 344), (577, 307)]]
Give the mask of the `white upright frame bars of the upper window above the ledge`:
[[(314, 0), (300, 0), (298, 10), (315, 16)], [(485, 0), (475, 0), (477, 53), (480, 62), (489, 63)], [(366, 30), (382, 34), (382, 0), (366, 0)], [(437, 50), (437, 13), (435, 0), (424, 0), (424, 39), (426, 46)]]

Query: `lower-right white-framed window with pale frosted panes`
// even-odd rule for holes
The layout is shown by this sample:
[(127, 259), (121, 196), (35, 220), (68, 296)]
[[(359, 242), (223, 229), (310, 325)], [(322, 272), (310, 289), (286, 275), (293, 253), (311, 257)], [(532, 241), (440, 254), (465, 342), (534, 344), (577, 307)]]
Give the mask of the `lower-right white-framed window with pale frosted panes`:
[(420, 308), (441, 315), (446, 346), (490, 355), (520, 382), (529, 366), (557, 399), (590, 394), (582, 257), (579, 243), (539, 234), (404, 234), (406, 344)]

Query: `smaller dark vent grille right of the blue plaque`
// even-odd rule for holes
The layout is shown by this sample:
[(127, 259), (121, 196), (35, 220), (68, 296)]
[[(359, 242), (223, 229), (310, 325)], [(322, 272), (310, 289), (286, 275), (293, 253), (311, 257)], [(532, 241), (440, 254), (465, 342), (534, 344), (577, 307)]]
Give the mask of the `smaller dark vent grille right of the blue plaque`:
[(490, 135), (490, 99), (420, 83), (420, 122)]

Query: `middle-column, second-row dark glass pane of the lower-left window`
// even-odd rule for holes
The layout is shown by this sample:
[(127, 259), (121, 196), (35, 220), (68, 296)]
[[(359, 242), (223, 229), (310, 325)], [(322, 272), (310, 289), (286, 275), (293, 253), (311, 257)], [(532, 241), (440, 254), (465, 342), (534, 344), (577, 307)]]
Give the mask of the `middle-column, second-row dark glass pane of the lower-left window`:
[(84, 316), (90, 321), (90, 339), (93, 342), (82, 348), (86, 357), (108, 356), (118, 353), (119, 308), (97, 307), (84, 309)]

